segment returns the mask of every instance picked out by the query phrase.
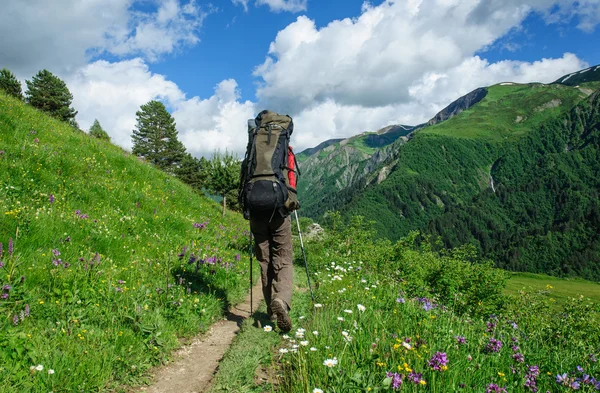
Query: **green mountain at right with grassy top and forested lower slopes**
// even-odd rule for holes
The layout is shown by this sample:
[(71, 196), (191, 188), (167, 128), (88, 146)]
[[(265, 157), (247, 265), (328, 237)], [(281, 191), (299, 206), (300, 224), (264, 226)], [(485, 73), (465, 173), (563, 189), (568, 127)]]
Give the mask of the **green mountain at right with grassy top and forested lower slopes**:
[(385, 181), (334, 198), (380, 236), (421, 229), (510, 270), (598, 280), (596, 101), (570, 112), (596, 85), (492, 86), (400, 146)]

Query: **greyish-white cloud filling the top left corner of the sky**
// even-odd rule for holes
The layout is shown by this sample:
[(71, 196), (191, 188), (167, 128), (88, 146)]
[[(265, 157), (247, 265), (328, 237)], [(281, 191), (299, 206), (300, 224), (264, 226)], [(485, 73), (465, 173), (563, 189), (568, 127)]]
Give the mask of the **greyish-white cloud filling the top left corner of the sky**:
[(20, 78), (40, 67), (68, 75), (90, 58), (109, 53), (160, 55), (198, 42), (198, 29), (210, 10), (195, 0), (166, 0), (155, 10), (136, 11), (143, 0), (9, 0), (0, 13), (2, 66)]

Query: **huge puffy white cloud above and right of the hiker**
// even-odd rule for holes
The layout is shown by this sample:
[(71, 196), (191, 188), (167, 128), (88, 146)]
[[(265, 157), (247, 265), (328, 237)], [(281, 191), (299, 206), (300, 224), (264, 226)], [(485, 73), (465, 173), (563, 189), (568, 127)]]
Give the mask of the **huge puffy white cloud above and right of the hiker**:
[[(277, 34), (257, 96), (299, 113), (327, 100), (365, 108), (409, 102), (411, 84), (457, 67), (554, 0), (410, 0), (365, 3), (354, 19), (318, 29), (300, 16)], [(565, 8), (566, 9), (566, 8)]]

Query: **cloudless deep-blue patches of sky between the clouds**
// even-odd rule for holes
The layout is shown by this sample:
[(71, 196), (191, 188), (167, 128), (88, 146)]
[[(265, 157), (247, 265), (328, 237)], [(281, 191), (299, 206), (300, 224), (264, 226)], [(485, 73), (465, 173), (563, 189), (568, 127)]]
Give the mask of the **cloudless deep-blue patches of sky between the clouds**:
[[(353, 18), (360, 15), (362, 4), (361, 0), (313, 0), (308, 1), (306, 12), (273, 13), (267, 6), (250, 6), (246, 12), (239, 5), (223, 1), (219, 10), (207, 17), (197, 46), (167, 56), (151, 69), (167, 75), (190, 95), (210, 96), (218, 82), (234, 78), (242, 98), (255, 101), (257, 78), (252, 71), (264, 61), (278, 31), (298, 15), (307, 15), (318, 28), (336, 19)], [(519, 28), (477, 53), (491, 62), (533, 62), (572, 52), (590, 65), (600, 64), (600, 29), (583, 32), (577, 24), (576, 18), (547, 24), (539, 13), (532, 13)]]

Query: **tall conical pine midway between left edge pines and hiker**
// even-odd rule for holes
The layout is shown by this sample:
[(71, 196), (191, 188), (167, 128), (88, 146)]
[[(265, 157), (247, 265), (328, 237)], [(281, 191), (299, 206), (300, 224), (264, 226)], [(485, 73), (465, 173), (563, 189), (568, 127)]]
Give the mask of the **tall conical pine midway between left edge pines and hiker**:
[(185, 157), (185, 147), (177, 139), (175, 120), (159, 101), (150, 101), (136, 112), (133, 154), (144, 157), (164, 171), (175, 173)]

